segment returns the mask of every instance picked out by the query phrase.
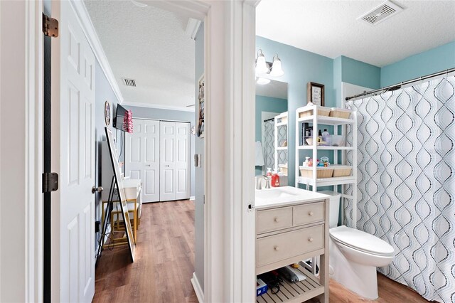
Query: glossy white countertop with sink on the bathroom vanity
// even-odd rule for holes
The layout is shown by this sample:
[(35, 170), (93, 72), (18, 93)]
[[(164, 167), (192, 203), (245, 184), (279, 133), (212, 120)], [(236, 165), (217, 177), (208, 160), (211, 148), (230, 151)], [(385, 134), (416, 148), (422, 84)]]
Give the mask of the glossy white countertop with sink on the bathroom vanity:
[(272, 187), (256, 190), (256, 209), (287, 206), (295, 203), (310, 203), (324, 200), (330, 196), (292, 186)]

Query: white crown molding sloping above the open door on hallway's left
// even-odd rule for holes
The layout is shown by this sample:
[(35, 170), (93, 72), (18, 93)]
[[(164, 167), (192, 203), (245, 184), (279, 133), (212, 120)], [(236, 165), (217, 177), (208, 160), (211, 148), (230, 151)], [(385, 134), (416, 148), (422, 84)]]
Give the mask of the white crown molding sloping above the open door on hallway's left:
[(102, 48), (100, 38), (98, 38), (97, 32), (95, 31), (95, 27), (93, 26), (92, 20), (90, 19), (90, 15), (88, 14), (84, 2), (71, 0), (70, 3), (73, 5), (76, 14), (79, 17), (82, 31), (84, 31), (85, 37), (87, 38), (87, 41), (90, 44), (93, 53), (95, 53), (95, 57), (97, 58), (98, 63), (100, 63), (102, 71), (106, 75), (107, 81), (111, 85), (112, 90), (114, 90), (114, 94), (117, 97), (117, 100), (119, 100), (119, 104), (123, 104), (124, 99), (122, 92), (120, 91), (120, 87), (117, 84), (117, 80), (115, 80), (114, 73), (112, 73), (111, 65), (109, 65), (105, 50)]

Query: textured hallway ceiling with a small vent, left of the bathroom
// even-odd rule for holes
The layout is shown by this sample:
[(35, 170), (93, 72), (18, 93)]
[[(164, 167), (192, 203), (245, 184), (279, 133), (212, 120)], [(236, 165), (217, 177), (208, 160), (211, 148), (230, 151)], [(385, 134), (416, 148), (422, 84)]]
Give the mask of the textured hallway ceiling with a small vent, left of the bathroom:
[[(126, 103), (186, 107), (195, 100), (195, 42), (188, 17), (132, 1), (85, 0)], [(127, 87), (122, 78), (136, 80)]]

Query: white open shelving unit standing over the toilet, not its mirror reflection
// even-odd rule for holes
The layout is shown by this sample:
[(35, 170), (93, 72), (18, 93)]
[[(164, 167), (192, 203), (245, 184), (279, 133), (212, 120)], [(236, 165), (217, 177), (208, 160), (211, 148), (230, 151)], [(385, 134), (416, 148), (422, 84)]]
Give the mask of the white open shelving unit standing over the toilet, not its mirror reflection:
[[(313, 111), (313, 115), (306, 117), (299, 117), (301, 112), (308, 112), (309, 110)], [(346, 139), (346, 125), (352, 125), (353, 129), (357, 129), (357, 112), (352, 112), (350, 119), (336, 118), (336, 117), (326, 117), (318, 115), (318, 108), (316, 106), (306, 106), (299, 107), (296, 110), (296, 187), (299, 184), (304, 184), (306, 189), (312, 191), (317, 191), (317, 188), (320, 186), (334, 186), (333, 191), (338, 192), (338, 185), (341, 185), (341, 197), (349, 198), (353, 201), (353, 228), (356, 228), (357, 222), (357, 132), (353, 132), (353, 144), (350, 147), (331, 147), (331, 146), (319, 146), (316, 144), (313, 145), (302, 145), (301, 136), (301, 126), (304, 123), (312, 124), (313, 126), (313, 142), (316, 142), (318, 137), (318, 130), (321, 125), (331, 125), (333, 126), (333, 134), (338, 134), (338, 128), (341, 128), (341, 135)], [(304, 135), (304, 134), (302, 134)], [(347, 140), (346, 140), (347, 141)], [(305, 142), (303, 142), (305, 144)], [(347, 142), (346, 142), (347, 144)], [(332, 177), (332, 178), (316, 178), (317, 176), (317, 167), (314, 165), (312, 167), (312, 177), (306, 178), (300, 176), (300, 169), (303, 159), (300, 156), (301, 150), (312, 151), (311, 158), (318, 159), (318, 151), (333, 151), (333, 164), (338, 164), (338, 151), (341, 151), (341, 164), (346, 165), (346, 152), (353, 152), (353, 165), (351, 166), (351, 175), (343, 177)], [(346, 184), (352, 184), (353, 194), (346, 194)], [(342, 199), (342, 204), (344, 199)], [(343, 207), (344, 210), (344, 207)]]

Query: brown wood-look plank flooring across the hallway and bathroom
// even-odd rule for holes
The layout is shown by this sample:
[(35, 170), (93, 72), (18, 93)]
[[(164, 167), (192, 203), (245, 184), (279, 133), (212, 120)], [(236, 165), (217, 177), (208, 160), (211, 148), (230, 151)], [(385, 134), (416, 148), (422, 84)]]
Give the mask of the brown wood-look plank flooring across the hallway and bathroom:
[[(193, 201), (143, 204), (135, 262), (129, 260), (126, 246), (104, 250), (96, 269), (93, 302), (198, 302), (191, 285), (193, 272)], [(379, 299), (370, 301), (331, 280), (330, 302), (428, 302), (380, 274), (378, 291)]]

